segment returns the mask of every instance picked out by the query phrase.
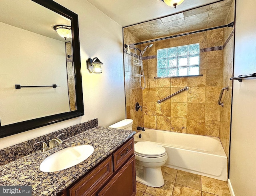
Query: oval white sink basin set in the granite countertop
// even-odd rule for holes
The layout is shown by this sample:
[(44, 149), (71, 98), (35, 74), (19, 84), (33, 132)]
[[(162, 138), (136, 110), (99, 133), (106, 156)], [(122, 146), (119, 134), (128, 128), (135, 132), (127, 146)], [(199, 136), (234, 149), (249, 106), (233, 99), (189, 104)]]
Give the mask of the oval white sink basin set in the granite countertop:
[(45, 158), (39, 169), (42, 172), (64, 170), (86, 160), (93, 152), (93, 146), (85, 144), (64, 148)]

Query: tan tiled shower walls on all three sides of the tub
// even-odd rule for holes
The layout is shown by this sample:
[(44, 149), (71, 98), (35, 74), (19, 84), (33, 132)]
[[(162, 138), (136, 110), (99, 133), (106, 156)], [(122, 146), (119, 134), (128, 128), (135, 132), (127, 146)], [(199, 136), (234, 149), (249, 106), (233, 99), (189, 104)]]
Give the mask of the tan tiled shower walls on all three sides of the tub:
[[(232, 8), (231, 8), (232, 9)], [(232, 11), (230, 11), (231, 13)], [(234, 16), (228, 16), (234, 20)], [(228, 23), (229, 23), (229, 20)], [(232, 22), (231, 21), (231, 22)], [(124, 53), (126, 116), (134, 120), (137, 126), (174, 132), (221, 137), (224, 149), (229, 141), (231, 90), (222, 99), (228, 99), (226, 107), (217, 104), (220, 90), (231, 86), (233, 55), (232, 39), (223, 50), (223, 45), (233, 28), (223, 28), (201, 32), (179, 38), (152, 42), (153, 46), (144, 53), (144, 73), (146, 89), (141, 90), (132, 77), (132, 56)], [(124, 30), (124, 44), (141, 42)], [(161, 48), (200, 43), (200, 74), (203, 76), (182, 78), (155, 78), (156, 52)], [(146, 44), (142, 44), (143, 49)], [(136, 46), (137, 47), (137, 46)], [(133, 50), (131, 50), (133, 52)], [(223, 72), (223, 74), (222, 74)], [(161, 104), (157, 100), (165, 98), (188, 86), (184, 91)], [(136, 112), (135, 103), (139, 102), (143, 110)], [(229, 108), (228, 108), (229, 106)], [(228, 137), (227, 137), (228, 136)], [(225, 143), (224, 143), (225, 142)], [(226, 150), (228, 153), (228, 150)]]

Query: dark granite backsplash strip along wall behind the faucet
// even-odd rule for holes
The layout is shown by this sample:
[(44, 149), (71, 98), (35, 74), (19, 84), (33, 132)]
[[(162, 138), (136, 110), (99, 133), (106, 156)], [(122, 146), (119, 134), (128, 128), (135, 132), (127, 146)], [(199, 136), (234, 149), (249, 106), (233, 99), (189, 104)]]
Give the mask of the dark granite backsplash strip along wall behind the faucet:
[(50, 134), (46, 134), (44, 136), (40, 136), (38, 138), (34, 138), (26, 142), (22, 142), (20, 144), (16, 144), (8, 148), (4, 148), (0, 150), (0, 165), (7, 164), (9, 162), (17, 160), (18, 158), (27, 156), (33, 152), (41, 150), (42, 144), (35, 144), (36, 142), (44, 141), (46, 142), (46, 144), (48, 144), (52, 138), (56, 138), (56, 136), (58, 136), (61, 133), (64, 134), (60, 136), (60, 139), (65, 140), (67, 138), (70, 138), (74, 135), (80, 134), (88, 129), (92, 129), (97, 126), (98, 119), (95, 118), (87, 122), (76, 124), (74, 126), (70, 126), (68, 128), (58, 130)]

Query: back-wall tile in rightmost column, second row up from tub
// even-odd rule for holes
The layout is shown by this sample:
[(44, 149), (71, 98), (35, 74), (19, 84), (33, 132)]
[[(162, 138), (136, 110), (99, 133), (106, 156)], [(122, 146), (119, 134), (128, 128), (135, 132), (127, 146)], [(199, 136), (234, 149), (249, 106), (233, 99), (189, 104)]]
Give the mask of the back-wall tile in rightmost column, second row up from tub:
[(205, 120), (220, 121), (221, 106), (218, 104), (205, 104)]

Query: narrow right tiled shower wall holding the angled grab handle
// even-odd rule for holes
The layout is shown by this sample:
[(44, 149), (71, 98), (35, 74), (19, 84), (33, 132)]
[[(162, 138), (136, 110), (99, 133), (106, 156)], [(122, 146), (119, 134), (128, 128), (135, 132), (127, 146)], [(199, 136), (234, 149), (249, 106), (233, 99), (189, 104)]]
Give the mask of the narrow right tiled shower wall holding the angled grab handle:
[[(226, 19), (226, 24), (234, 21), (234, 4), (235, 2), (233, 1)], [(223, 38), (226, 41), (223, 49), (222, 87), (232, 87), (232, 81), (229, 78), (233, 76), (234, 28), (224, 28)], [(221, 108), (220, 112), (220, 141), (227, 156), (230, 141), (231, 99), (232, 90), (230, 89), (223, 94), (222, 102), (224, 103), (224, 107)]]

